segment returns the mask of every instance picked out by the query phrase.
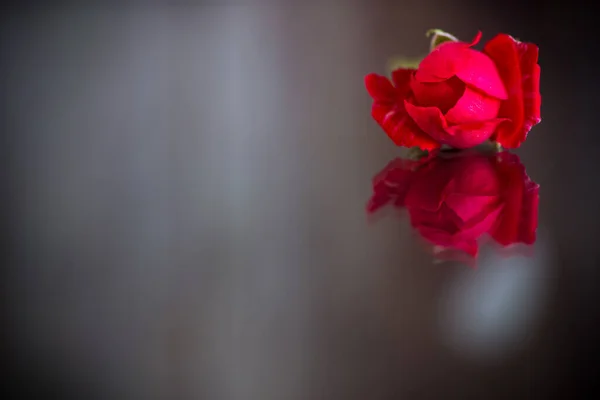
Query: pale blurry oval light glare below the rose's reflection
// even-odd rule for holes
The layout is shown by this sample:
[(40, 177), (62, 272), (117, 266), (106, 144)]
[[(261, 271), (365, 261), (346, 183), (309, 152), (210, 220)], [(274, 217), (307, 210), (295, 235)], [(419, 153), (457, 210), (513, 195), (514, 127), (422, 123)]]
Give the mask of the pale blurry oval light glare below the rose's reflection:
[(528, 345), (547, 294), (547, 243), (536, 257), (483, 251), (477, 271), (459, 269), (439, 297), (439, 327), (462, 357), (492, 361)]

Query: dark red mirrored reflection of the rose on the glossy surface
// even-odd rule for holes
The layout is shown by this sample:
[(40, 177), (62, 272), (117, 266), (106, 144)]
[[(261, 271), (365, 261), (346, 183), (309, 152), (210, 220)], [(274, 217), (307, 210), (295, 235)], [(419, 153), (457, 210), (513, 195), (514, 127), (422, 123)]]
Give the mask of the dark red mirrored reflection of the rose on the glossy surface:
[(508, 152), (397, 159), (374, 178), (373, 190), (369, 213), (393, 201), (437, 246), (475, 256), (485, 233), (503, 246), (535, 241), (539, 186)]

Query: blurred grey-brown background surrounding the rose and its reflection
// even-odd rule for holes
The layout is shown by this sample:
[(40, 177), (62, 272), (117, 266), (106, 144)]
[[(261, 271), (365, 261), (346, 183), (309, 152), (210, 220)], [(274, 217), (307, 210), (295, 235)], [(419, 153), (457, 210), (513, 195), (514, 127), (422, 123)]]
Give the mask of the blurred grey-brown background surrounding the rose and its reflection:
[[(582, 2), (3, 8), (11, 398), (563, 398), (595, 377)], [(517, 151), (541, 185), (532, 257), (436, 264), (406, 220), (367, 221), (401, 152), (363, 78), (430, 28), (540, 46), (543, 122)]]

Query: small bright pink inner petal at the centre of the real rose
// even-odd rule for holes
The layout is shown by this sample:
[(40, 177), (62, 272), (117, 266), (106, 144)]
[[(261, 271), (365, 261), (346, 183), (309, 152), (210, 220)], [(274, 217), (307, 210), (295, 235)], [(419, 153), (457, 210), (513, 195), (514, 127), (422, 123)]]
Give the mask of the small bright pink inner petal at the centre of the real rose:
[(467, 86), (462, 97), (445, 113), (445, 116), (451, 124), (481, 122), (496, 118), (499, 109), (500, 100)]

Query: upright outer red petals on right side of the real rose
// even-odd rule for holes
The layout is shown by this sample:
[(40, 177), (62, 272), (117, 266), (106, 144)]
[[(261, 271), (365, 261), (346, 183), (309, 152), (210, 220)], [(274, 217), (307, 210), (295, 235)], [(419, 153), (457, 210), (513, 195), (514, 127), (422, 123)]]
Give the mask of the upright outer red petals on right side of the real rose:
[(499, 34), (485, 45), (484, 52), (496, 63), (509, 93), (508, 100), (500, 106), (498, 116), (510, 121), (499, 127), (494, 138), (504, 147), (519, 147), (531, 128), (541, 121), (538, 48)]

